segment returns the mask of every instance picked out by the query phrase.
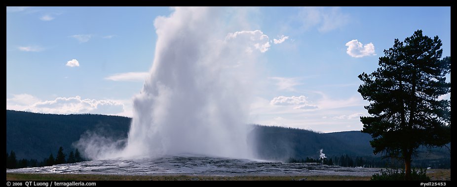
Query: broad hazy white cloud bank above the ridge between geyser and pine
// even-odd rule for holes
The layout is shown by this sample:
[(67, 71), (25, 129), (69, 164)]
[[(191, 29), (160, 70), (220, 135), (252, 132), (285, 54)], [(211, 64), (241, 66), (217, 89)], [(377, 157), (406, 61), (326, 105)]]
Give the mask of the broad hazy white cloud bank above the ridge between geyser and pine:
[[(313, 93), (313, 92), (311, 92)], [(363, 99), (360, 96), (354, 96), (344, 99), (329, 98), (326, 94), (321, 94), (322, 98), (311, 103), (309, 97), (307, 104), (278, 106), (271, 105), (271, 99), (256, 97), (252, 100), (249, 113), (249, 123), (261, 125), (280, 125), (312, 129), (322, 132), (336, 132), (347, 130), (360, 130), (363, 124), (357, 122), (360, 109), (363, 109)], [(299, 97), (299, 96), (296, 96)], [(314, 97), (313, 97), (314, 98)], [(318, 108), (297, 110), (296, 107), (301, 105), (314, 105)], [(306, 108), (306, 107), (305, 107)], [(345, 116), (341, 116), (346, 114)], [(352, 116), (351, 116), (352, 115)], [(284, 118), (284, 120), (275, 119), (275, 117)], [(344, 120), (338, 120), (337, 118)], [(347, 120), (352, 118), (351, 120)], [(331, 124), (331, 125), (330, 125)], [(347, 127), (347, 125), (351, 125)]]

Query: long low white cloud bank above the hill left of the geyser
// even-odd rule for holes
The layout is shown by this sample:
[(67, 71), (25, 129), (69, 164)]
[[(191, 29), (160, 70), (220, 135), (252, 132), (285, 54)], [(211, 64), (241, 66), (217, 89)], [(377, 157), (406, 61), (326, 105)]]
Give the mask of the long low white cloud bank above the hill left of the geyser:
[(114, 100), (82, 99), (80, 96), (41, 101), (30, 94), (16, 94), (6, 98), (6, 109), (49, 114), (115, 115), (124, 112), (124, 104)]

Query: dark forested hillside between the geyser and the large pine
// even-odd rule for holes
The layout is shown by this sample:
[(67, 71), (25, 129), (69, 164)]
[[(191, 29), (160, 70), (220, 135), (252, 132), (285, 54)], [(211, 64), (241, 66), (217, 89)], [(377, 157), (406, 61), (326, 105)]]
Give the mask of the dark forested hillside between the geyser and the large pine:
[(254, 125), (251, 141), (257, 156), (266, 159), (317, 158), (319, 150), (327, 156), (374, 156), (369, 134), (360, 131), (317, 133), (279, 126)]

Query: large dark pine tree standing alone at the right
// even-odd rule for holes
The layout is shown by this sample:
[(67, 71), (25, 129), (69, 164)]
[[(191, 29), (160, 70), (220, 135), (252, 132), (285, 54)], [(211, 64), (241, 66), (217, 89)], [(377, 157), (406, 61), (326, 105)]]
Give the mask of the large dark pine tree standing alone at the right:
[(373, 137), (374, 154), (402, 159), (406, 179), (419, 146), (441, 147), (451, 142), (451, 101), (439, 96), (451, 93), (451, 57), (441, 60), (438, 36), (433, 39), (415, 31), (404, 42), (395, 39), (384, 50), (380, 67), (358, 77), (364, 82), (358, 92), (370, 101), (371, 116), (360, 117), (362, 132)]

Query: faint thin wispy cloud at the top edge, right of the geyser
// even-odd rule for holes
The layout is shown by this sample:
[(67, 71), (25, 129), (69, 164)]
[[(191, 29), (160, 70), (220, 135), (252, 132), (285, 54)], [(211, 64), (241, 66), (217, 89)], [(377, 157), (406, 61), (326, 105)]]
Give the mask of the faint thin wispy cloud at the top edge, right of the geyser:
[(327, 32), (343, 27), (350, 16), (339, 7), (303, 7), (297, 19), (302, 23), (302, 29), (317, 27), (318, 31)]

